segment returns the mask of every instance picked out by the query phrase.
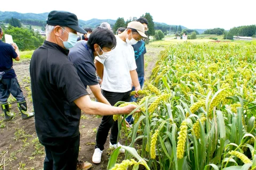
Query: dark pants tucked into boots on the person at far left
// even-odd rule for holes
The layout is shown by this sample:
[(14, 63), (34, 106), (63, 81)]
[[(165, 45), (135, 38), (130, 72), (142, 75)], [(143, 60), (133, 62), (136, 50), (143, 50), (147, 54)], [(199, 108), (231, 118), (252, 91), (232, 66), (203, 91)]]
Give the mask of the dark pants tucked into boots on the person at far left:
[(0, 81), (0, 103), (6, 102), (10, 94), (12, 94), (17, 101), (25, 100), (17, 77), (12, 79), (2, 79)]

